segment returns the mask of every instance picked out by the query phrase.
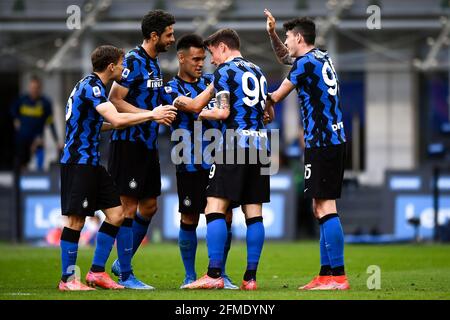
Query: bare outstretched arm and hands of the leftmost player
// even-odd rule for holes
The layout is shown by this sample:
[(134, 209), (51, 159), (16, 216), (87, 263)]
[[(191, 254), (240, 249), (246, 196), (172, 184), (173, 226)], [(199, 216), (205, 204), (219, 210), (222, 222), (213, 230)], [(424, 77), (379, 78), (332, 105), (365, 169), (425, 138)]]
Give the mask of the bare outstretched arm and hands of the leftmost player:
[(139, 113), (119, 113), (111, 102), (101, 103), (96, 110), (109, 122), (114, 128), (124, 128), (133, 126), (149, 120), (160, 120), (161, 123), (170, 125), (176, 117), (176, 108), (173, 106), (159, 106), (152, 111)]

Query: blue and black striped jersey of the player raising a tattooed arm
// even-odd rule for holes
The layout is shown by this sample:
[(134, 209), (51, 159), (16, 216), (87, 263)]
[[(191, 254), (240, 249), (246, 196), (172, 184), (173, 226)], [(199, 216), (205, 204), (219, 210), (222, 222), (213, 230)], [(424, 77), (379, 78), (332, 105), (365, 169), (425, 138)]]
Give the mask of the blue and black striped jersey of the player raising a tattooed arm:
[(345, 142), (339, 82), (326, 51), (298, 57), (288, 75), (301, 104), (306, 148)]

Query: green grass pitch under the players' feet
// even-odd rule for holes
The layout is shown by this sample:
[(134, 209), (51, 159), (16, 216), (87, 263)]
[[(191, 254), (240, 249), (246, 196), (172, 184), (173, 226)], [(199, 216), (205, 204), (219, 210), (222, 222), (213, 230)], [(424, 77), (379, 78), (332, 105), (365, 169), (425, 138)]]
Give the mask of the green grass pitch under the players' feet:
[[(84, 277), (93, 255), (92, 248), (81, 248), (78, 265)], [(115, 248), (107, 271), (116, 257)], [(175, 243), (148, 244), (135, 259), (135, 274), (155, 286), (155, 291), (59, 292), (59, 248), (37, 248), (0, 244), (0, 300), (8, 299), (450, 299), (449, 245), (347, 245), (346, 271), (351, 290), (346, 292), (301, 292), (300, 284), (308, 282), (318, 271), (316, 242), (266, 242), (258, 270), (256, 292), (229, 290), (178, 289), (183, 267)], [(245, 243), (234, 241), (227, 272), (240, 283), (245, 269)], [(197, 273), (206, 271), (207, 252), (199, 242)], [(381, 289), (369, 290), (367, 268), (381, 270)], [(84, 280), (84, 279), (83, 279)]]

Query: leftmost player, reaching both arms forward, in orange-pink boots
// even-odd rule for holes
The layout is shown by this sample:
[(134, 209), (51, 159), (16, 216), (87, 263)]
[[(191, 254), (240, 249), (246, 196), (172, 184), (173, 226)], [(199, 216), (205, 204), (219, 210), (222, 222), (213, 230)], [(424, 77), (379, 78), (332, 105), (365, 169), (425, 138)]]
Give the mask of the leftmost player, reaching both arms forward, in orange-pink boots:
[[(86, 216), (102, 210), (106, 218), (97, 234), (89, 286), (123, 289), (105, 272), (105, 263), (124, 221), (119, 192), (111, 176), (99, 164), (100, 130), (136, 125), (149, 120), (175, 118), (175, 108), (161, 106), (138, 114), (118, 113), (107, 100), (106, 84), (120, 79), (124, 52), (113, 46), (101, 46), (91, 56), (93, 73), (80, 80), (66, 105), (66, 138), (61, 156), (61, 209), (67, 223), (61, 234), (62, 277), (59, 290), (92, 290), (75, 275), (78, 241)], [(103, 125), (103, 120), (109, 122)], [(103, 127), (102, 127), (103, 126)]]

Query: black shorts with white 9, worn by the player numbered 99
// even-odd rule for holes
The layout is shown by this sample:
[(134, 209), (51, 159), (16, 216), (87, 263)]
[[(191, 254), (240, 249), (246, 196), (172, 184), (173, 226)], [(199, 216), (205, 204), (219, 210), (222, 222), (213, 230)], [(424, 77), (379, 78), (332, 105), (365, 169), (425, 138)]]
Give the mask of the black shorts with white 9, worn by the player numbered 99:
[(207, 197), (225, 198), (231, 207), (270, 202), (270, 176), (262, 175), (261, 164), (213, 164)]

